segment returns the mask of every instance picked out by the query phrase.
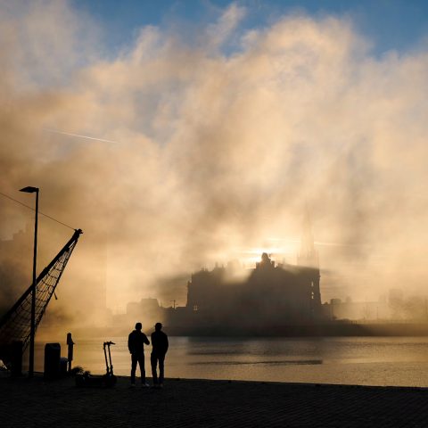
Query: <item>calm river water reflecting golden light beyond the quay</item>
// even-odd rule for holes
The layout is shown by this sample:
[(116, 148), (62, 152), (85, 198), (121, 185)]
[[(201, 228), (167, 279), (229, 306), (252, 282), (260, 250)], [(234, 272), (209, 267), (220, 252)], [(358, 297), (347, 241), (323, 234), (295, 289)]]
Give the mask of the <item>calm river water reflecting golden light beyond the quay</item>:
[[(103, 341), (79, 339), (73, 366), (105, 373)], [(109, 338), (115, 374), (129, 375), (128, 338)], [(62, 356), (67, 347), (62, 345)], [(150, 349), (145, 367), (150, 374)], [(43, 371), (44, 344), (36, 344)], [(428, 386), (428, 338), (192, 338), (170, 337), (166, 376), (293, 383)]]

